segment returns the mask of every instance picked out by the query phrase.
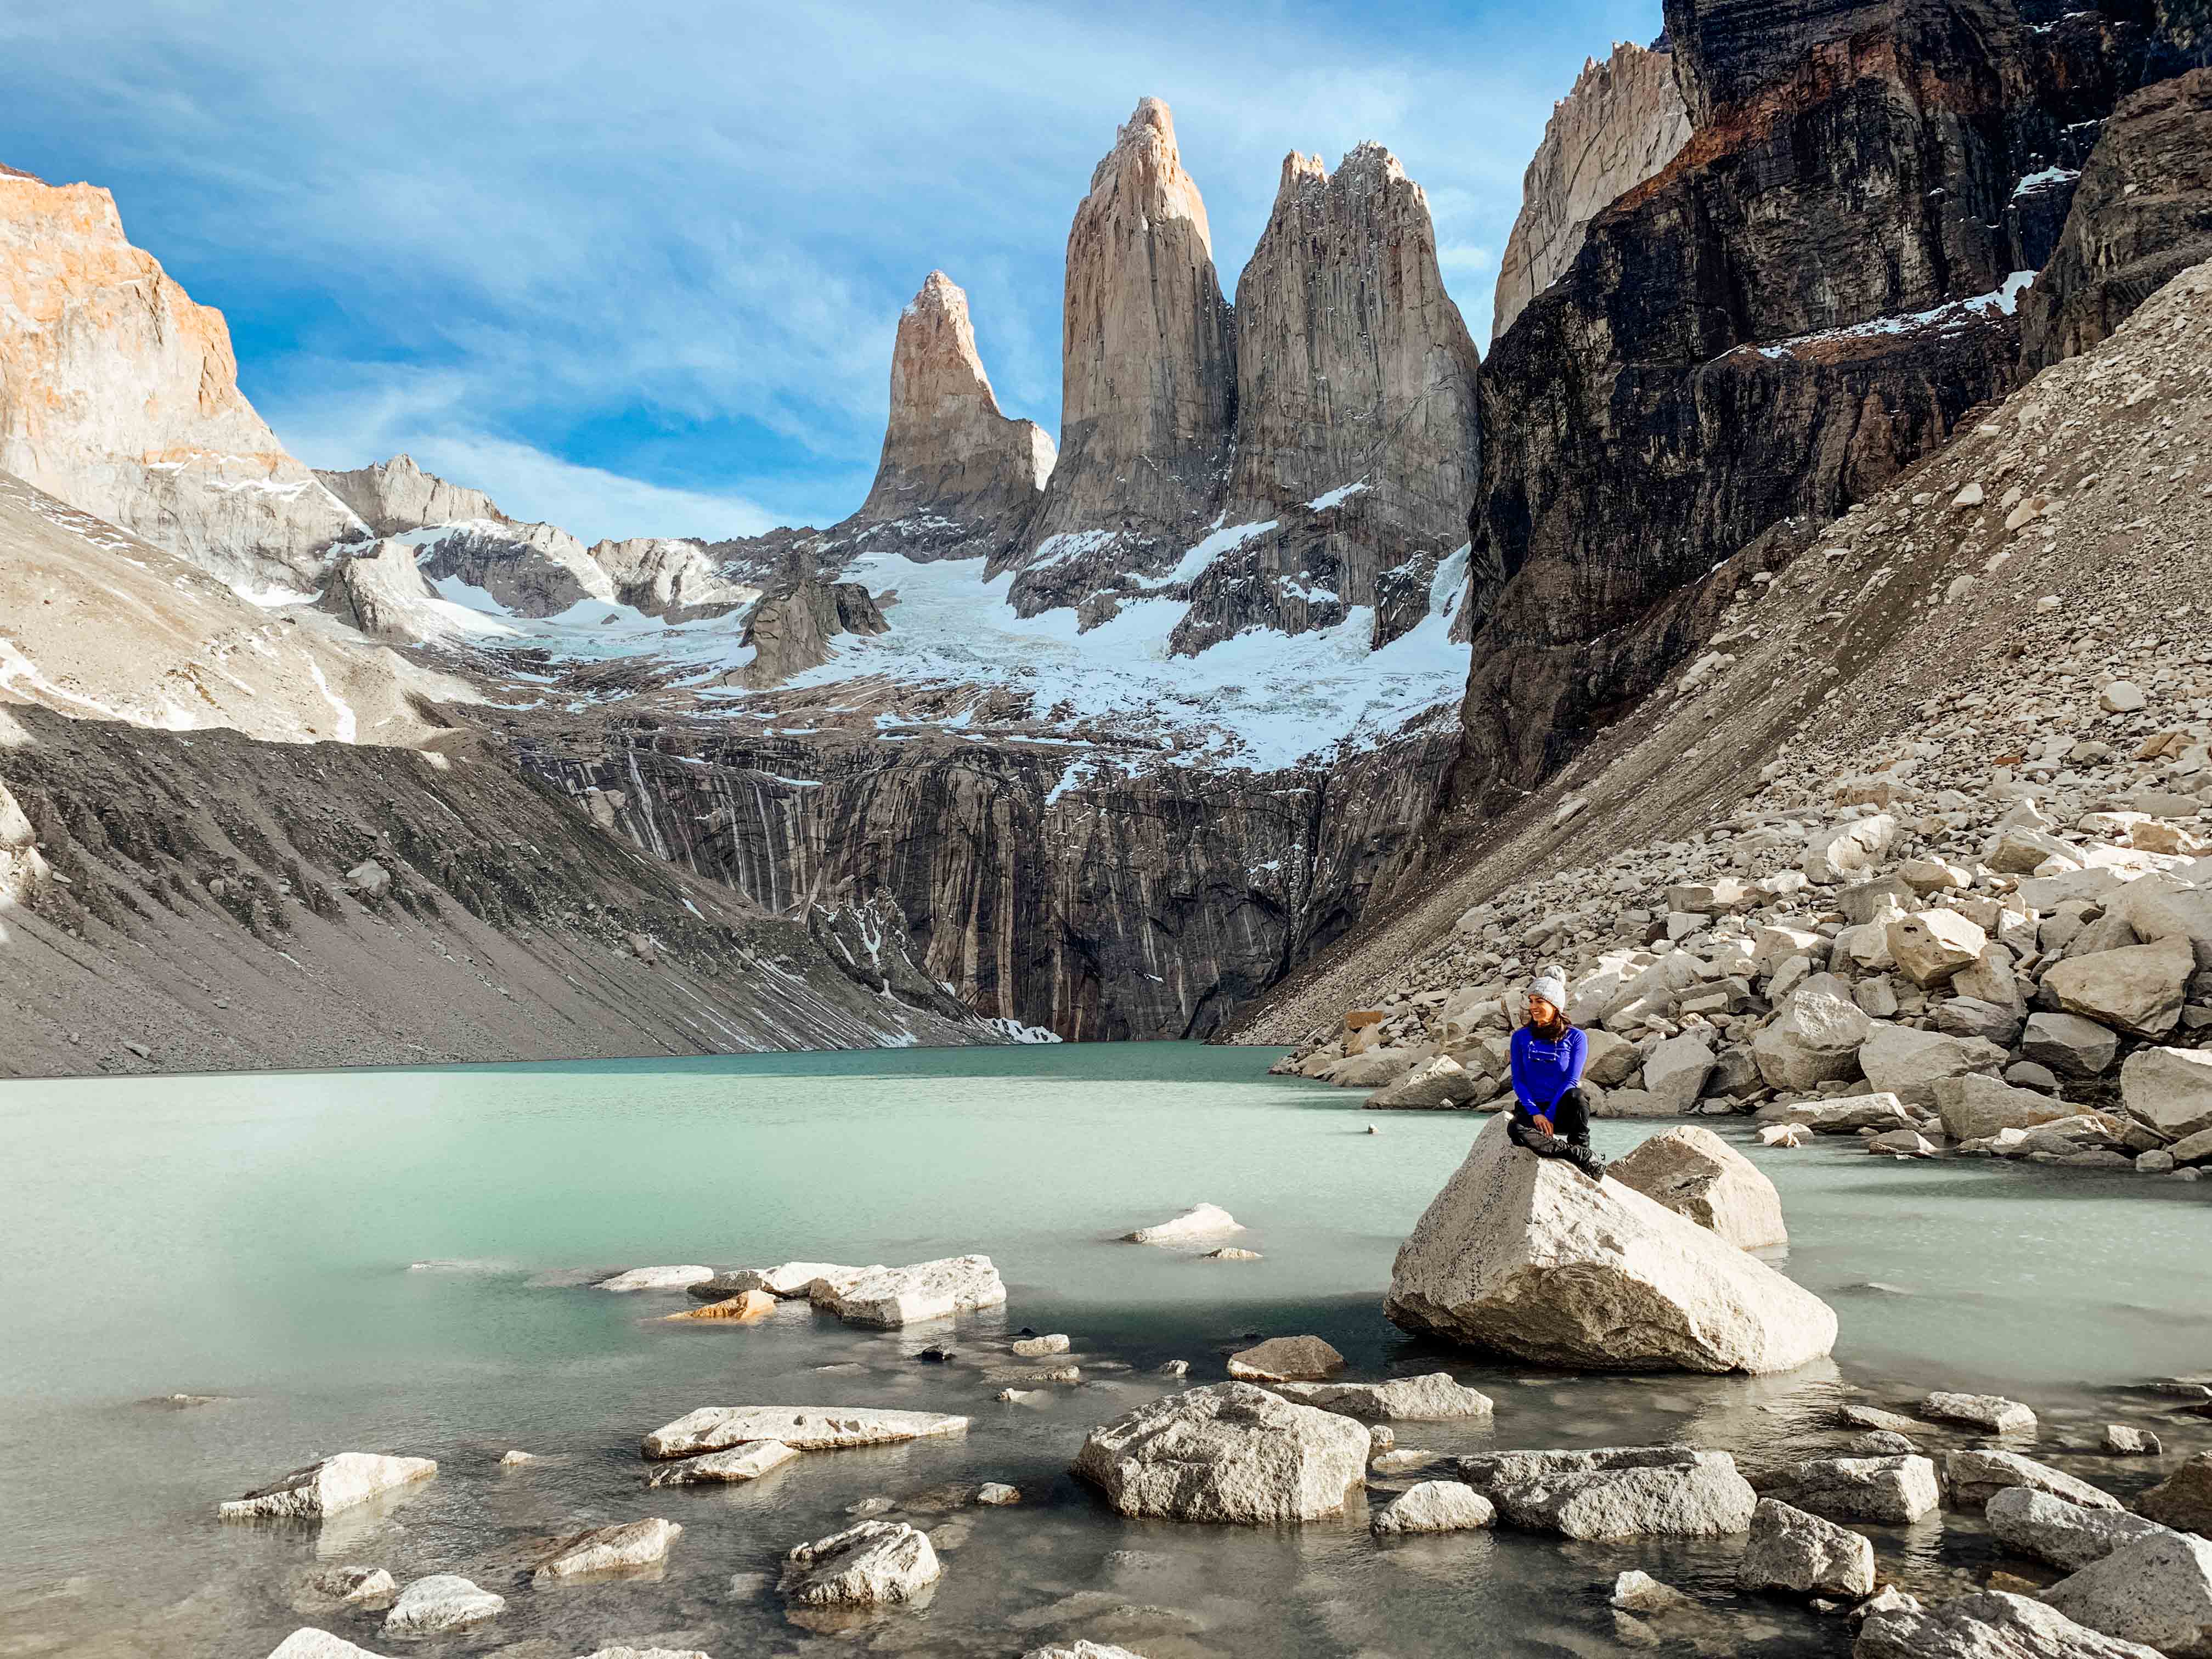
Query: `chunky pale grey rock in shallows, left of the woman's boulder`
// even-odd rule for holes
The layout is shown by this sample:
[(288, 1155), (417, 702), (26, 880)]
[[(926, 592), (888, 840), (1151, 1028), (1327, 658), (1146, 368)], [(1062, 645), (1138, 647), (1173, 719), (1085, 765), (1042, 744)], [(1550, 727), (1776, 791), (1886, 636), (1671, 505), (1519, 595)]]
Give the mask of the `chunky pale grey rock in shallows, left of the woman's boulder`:
[(1214, 1383), (1093, 1429), (1073, 1473), (1124, 1515), (1267, 1526), (1338, 1513), (1367, 1475), (1367, 1449), (1352, 1418)]

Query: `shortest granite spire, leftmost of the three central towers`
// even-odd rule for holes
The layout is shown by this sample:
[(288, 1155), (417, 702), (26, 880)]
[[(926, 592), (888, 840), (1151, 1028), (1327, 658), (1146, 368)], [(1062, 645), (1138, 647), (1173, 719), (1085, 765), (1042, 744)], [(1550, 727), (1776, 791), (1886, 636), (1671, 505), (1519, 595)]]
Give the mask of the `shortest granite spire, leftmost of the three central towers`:
[(916, 520), (896, 544), (909, 557), (1004, 553), (1051, 471), (1044, 429), (998, 411), (967, 294), (942, 270), (929, 272), (898, 319), (883, 460), (856, 522)]

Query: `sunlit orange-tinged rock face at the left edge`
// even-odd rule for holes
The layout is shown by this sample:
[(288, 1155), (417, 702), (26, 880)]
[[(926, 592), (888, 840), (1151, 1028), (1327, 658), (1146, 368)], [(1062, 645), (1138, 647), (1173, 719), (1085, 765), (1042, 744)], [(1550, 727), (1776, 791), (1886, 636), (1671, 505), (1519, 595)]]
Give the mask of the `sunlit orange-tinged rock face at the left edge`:
[(363, 524), (239, 392), (221, 312), (115, 199), (0, 170), (0, 471), (246, 593), (303, 593)]

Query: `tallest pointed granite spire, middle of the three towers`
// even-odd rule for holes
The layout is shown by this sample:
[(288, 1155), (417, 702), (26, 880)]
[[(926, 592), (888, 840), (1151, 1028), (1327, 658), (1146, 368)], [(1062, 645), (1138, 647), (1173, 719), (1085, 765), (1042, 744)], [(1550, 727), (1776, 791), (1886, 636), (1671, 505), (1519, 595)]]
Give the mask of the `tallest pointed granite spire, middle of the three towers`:
[(1157, 97), (1137, 104), (1091, 175), (1066, 281), (1060, 465), (1015, 584), (1024, 611), (1108, 571), (1172, 564), (1221, 491), (1237, 336), (1206, 204)]

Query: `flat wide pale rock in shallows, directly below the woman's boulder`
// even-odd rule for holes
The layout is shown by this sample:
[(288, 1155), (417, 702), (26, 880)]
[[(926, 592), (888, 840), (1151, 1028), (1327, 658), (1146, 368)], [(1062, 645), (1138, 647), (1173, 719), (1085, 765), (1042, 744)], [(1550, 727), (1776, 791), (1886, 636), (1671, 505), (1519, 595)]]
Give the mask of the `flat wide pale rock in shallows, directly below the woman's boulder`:
[(1460, 1458), (1460, 1480), (1515, 1526), (1564, 1537), (1728, 1537), (1759, 1493), (1725, 1451), (1604, 1447)]

